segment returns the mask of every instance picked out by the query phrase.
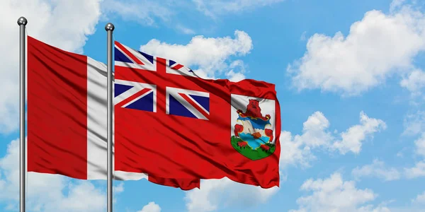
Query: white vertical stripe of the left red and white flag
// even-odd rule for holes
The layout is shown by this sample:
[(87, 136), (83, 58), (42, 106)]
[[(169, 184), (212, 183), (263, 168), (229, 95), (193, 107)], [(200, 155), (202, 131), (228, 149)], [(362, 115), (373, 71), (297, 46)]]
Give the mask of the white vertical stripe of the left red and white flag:
[[(87, 57), (87, 179), (106, 179), (106, 64)], [(115, 179), (147, 178), (143, 173), (115, 171)]]

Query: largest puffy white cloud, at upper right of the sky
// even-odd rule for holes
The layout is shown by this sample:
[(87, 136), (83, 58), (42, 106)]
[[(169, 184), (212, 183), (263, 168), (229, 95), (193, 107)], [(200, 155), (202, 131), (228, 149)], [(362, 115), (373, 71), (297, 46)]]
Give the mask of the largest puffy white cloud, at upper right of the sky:
[(358, 95), (393, 73), (412, 71), (414, 57), (425, 49), (425, 16), (401, 2), (393, 2), (389, 14), (368, 11), (346, 37), (341, 32), (310, 37), (305, 55), (288, 66), (293, 85)]

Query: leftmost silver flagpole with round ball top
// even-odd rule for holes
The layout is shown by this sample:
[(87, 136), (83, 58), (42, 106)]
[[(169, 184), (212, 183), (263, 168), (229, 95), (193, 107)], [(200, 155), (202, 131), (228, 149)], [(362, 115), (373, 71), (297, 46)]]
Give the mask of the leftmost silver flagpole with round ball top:
[(19, 25), (19, 208), (21, 212), (25, 212), (25, 193), (26, 193), (26, 184), (25, 184), (25, 175), (26, 175), (26, 145), (25, 145), (25, 75), (26, 75), (26, 33), (25, 28), (28, 21), (25, 17), (18, 19)]

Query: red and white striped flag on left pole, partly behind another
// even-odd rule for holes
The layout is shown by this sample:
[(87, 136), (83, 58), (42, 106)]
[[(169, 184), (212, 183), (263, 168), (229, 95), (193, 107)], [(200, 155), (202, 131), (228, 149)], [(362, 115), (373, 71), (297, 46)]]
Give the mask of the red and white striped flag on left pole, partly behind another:
[[(65, 52), (28, 36), (28, 172), (106, 179), (106, 70), (105, 64), (90, 57)], [(152, 98), (151, 94), (140, 98)], [(185, 190), (200, 184), (194, 177), (178, 179), (145, 173), (115, 170), (113, 174), (115, 179), (147, 178)]]

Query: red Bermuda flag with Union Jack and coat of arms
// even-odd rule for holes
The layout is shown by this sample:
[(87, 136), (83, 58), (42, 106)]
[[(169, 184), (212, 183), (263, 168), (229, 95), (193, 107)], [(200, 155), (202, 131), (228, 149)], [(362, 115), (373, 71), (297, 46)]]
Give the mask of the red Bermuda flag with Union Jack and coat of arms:
[(115, 170), (279, 186), (275, 86), (207, 80), (115, 42)]

